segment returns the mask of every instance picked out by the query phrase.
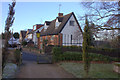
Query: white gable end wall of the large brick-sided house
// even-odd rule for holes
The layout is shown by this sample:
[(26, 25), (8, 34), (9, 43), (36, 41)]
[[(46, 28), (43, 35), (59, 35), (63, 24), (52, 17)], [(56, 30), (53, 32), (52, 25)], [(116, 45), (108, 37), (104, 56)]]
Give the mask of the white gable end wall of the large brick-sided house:
[[(75, 21), (74, 26), (70, 26), (70, 21)], [(78, 27), (78, 24), (72, 15), (70, 19), (68, 20), (67, 24), (61, 31), (63, 34), (63, 43), (71, 43), (71, 35), (72, 35), (72, 43), (81, 43), (81, 44), (72, 44), (72, 45), (77, 45), (77, 46), (82, 46), (83, 42), (83, 37), (82, 33)], [(64, 46), (71, 46), (71, 44), (63, 44)]]

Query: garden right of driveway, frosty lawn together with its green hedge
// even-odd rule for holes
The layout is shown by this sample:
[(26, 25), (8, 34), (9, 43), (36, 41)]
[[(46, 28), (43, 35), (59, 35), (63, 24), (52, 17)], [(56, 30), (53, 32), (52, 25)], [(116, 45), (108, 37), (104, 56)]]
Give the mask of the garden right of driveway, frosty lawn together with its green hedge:
[[(70, 48), (74, 49), (78, 47), (72, 46), (69, 47), (69, 49)], [(86, 78), (82, 52), (65, 50), (63, 52), (62, 47), (53, 47), (52, 54), (54, 63), (57, 63), (77, 78)], [(88, 55), (91, 66), (88, 78), (120, 78), (120, 74), (114, 70), (116, 62), (120, 61), (118, 57), (111, 57), (96, 53), (88, 53)]]

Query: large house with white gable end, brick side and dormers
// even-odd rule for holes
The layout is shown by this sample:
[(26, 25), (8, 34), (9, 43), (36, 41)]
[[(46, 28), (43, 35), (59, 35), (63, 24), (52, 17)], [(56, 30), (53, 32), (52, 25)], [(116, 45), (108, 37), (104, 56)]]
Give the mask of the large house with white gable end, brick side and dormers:
[(73, 12), (67, 15), (58, 13), (56, 19), (45, 21), (40, 33), (39, 48), (43, 48), (44, 40), (47, 40), (47, 45), (82, 46), (82, 34), (82, 29)]

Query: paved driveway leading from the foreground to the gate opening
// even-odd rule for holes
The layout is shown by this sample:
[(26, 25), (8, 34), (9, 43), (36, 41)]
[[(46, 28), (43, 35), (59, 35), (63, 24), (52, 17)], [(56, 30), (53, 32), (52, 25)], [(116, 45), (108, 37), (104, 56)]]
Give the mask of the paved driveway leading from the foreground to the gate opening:
[[(28, 54), (27, 54), (28, 55)], [(25, 55), (23, 54), (24, 58)], [(29, 55), (31, 56), (31, 54)], [(35, 55), (34, 55), (35, 57)], [(56, 64), (37, 64), (34, 59), (23, 58), (23, 64), (16, 74), (16, 78), (73, 78), (74, 76), (66, 72)]]

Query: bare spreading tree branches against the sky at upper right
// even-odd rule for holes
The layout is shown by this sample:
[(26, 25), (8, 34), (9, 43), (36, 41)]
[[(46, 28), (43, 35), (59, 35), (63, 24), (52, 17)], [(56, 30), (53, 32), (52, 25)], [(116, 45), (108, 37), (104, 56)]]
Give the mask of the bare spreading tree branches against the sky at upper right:
[[(103, 30), (118, 30), (117, 35), (120, 34), (120, 2), (82, 2), (81, 4), (87, 9), (89, 21), (95, 24), (95, 37), (101, 38), (96, 33)], [(79, 18), (84, 20), (85, 16)]]

